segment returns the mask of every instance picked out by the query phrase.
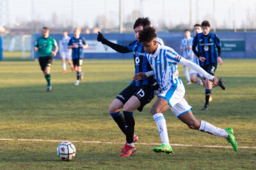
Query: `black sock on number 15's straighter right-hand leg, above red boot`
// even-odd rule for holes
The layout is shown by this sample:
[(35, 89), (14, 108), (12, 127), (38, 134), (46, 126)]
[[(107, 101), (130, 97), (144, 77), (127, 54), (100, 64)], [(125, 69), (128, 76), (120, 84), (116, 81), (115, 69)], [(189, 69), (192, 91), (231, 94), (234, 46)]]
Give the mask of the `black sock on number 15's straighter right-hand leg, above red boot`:
[(134, 125), (135, 121), (133, 113), (130, 111), (123, 111), (125, 118), (125, 134), (127, 143), (133, 143)]

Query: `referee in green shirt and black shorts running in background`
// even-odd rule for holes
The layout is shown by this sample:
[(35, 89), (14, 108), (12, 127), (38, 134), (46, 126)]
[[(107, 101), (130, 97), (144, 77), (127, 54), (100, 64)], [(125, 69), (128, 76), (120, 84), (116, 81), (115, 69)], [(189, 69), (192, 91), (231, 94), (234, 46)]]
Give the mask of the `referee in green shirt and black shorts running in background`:
[[(51, 66), (52, 66), (52, 56), (56, 56), (58, 52), (58, 44), (54, 38), (49, 36), (50, 29), (48, 27), (43, 27), (41, 34), (42, 37), (36, 39), (35, 52), (38, 50), (39, 64), (44, 73), (45, 79), (47, 81), (47, 92), (51, 92)], [(54, 51), (52, 48), (55, 47)]]

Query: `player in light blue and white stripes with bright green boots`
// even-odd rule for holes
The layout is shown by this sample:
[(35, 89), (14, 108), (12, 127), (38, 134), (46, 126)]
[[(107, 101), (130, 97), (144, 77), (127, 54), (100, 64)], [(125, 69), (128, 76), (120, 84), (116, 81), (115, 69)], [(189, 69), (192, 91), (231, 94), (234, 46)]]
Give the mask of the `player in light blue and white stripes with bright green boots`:
[(162, 145), (153, 148), (153, 151), (165, 153), (173, 152), (172, 146), (170, 146), (169, 143), (166, 121), (163, 115), (164, 111), (169, 109), (171, 109), (174, 115), (182, 122), (187, 124), (189, 128), (226, 138), (227, 141), (232, 144), (234, 150), (237, 151), (236, 138), (234, 137), (234, 130), (231, 127), (220, 129), (204, 120), (197, 120), (194, 117), (191, 106), (189, 106), (186, 99), (184, 99), (185, 89), (179, 78), (177, 65), (180, 63), (191, 67), (191, 69), (194, 69), (205, 76), (205, 78), (211, 80), (214, 85), (218, 84), (218, 79), (204, 71), (204, 69), (195, 63), (181, 57), (172, 48), (160, 45), (157, 43), (156, 38), (156, 29), (153, 27), (148, 27), (140, 32), (140, 41), (144, 50), (148, 52), (148, 62), (153, 70), (147, 73), (136, 73), (134, 75), (134, 81), (140, 81), (143, 80), (143, 78), (155, 75), (159, 83), (160, 94), (151, 108), (151, 113), (159, 130)]

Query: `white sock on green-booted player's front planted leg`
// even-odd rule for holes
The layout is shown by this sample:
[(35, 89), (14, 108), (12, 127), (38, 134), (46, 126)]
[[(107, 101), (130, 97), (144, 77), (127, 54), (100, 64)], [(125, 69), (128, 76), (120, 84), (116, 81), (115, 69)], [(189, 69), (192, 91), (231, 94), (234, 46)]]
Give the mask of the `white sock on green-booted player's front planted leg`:
[(153, 115), (153, 118), (156, 122), (162, 143), (170, 146), (166, 121), (163, 113), (156, 113), (155, 115)]

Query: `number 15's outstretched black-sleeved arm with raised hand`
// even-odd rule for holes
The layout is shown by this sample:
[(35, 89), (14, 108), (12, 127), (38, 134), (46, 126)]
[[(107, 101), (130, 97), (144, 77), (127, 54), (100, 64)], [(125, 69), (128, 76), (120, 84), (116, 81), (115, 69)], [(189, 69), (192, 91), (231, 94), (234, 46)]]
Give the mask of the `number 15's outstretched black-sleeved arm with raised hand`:
[(120, 53), (129, 53), (129, 52), (131, 52), (127, 48), (127, 46), (118, 45), (118, 44), (112, 43), (111, 41), (108, 41), (108, 39), (104, 38), (104, 36), (99, 31), (98, 31), (97, 40), (99, 42), (101, 42), (102, 44), (104, 44), (104, 45), (110, 46), (111, 48), (113, 48), (113, 50), (116, 50), (116, 52), (120, 52)]

